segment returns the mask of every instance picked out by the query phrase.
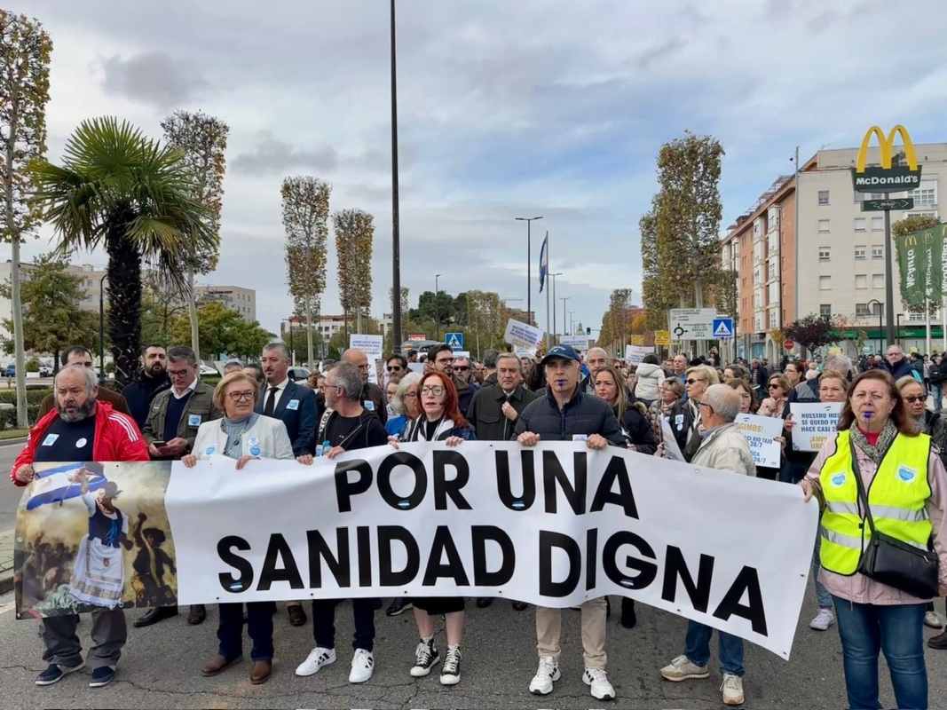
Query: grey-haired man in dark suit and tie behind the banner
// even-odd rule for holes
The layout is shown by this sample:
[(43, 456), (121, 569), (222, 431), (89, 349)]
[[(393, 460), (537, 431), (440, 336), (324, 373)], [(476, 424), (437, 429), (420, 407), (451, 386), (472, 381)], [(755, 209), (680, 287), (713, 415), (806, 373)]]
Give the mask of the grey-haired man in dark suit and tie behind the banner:
[[(257, 414), (280, 419), (293, 442), (293, 453), (299, 461), (313, 463), (315, 453), (315, 393), (309, 387), (290, 382), (289, 351), (282, 343), (270, 343), (259, 356), (266, 382), (260, 388)], [(287, 602), (290, 623), (302, 626), (306, 612), (299, 602)]]

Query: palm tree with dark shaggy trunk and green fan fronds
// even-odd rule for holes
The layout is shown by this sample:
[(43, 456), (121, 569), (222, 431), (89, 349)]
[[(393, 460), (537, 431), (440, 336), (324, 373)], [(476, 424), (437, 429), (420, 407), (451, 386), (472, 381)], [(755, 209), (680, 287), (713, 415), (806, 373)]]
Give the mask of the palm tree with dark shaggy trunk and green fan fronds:
[(141, 346), (142, 261), (180, 288), (185, 246), (213, 245), (210, 215), (190, 197), (182, 157), (110, 116), (82, 121), (66, 142), (62, 167), (45, 160), (30, 166), (33, 199), (56, 230), (58, 251), (104, 245), (108, 254), (108, 328), (122, 383)]

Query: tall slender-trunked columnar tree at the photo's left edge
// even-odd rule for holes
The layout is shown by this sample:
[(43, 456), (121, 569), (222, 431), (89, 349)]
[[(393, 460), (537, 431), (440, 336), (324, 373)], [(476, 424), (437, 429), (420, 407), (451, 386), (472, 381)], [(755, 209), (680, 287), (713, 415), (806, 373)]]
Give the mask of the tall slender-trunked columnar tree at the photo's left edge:
[(20, 244), (41, 222), (32, 204), (27, 166), (46, 152), (46, 103), (49, 101), (49, 55), (53, 44), (43, 26), (26, 15), (0, 9), (0, 181), (3, 183), (2, 236), (9, 241), (10, 301), (16, 354), (16, 421), (27, 426), (27, 381), (24, 368), (23, 302)]

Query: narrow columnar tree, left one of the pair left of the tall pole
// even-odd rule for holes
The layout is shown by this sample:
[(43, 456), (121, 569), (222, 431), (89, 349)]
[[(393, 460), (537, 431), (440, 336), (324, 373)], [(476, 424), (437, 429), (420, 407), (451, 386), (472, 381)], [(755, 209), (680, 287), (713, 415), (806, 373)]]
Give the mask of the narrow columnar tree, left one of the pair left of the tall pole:
[(306, 362), (315, 360), (313, 314), (326, 290), (326, 242), (329, 239), (329, 197), (332, 188), (309, 175), (283, 180), (283, 228), (286, 230), (286, 273), (295, 313), (306, 319)]

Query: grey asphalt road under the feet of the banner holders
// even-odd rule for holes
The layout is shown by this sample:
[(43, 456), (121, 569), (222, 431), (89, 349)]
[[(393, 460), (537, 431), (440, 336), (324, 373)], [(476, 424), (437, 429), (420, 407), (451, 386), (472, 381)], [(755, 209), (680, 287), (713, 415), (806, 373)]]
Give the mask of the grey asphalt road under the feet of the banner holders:
[[(618, 607), (616, 597), (613, 606)], [(938, 610), (943, 611), (938, 602)], [(139, 612), (129, 612), (129, 619)], [(11, 597), (0, 598), (0, 686), (7, 708), (63, 707), (218, 707), (299, 708), (722, 708), (716, 641), (711, 643), (711, 676), (704, 681), (668, 683), (658, 668), (681, 653), (687, 622), (667, 612), (638, 605), (638, 626), (625, 630), (616, 616), (609, 621), (609, 672), (617, 698), (595, 701), (581, 683), (579, 613), (563, 612), (563, 678), (550, 696), (529, 695), (527, 685), (536, 669), (534, 617), (531, 610), (513, 612), (508, 603), (490, 609), (468, 604), (467, 637), (463, 644), (461, 681), (444, 688), (437, 675), (415, 680), (408, 675), (417, 644), (414, 621), (405, 613), (376, 617), (375, 675), (368, 683), (350, 685), (351, 611), (337, 612), (339, 660), (311, 678), (296, 678), (295, 666), (309, 652), (311, 629), (289, 626), (285, 612), (277, 613), (274, 675), (269, 683), (251, 685), (249, 661), (217, 678), (202, 678), (199, 668), (214, 652), (216, 612), (201, 627), (188, 627), (185, 614), (148, 629), (131, 628), (116, 682), (88, 687), (88, 670), (45, 688), (33, 684), (45, 668), (36, 637), (37, 621), (16, 620)], [(841, 649), (834, 628), (808, 629), (813, 614), (812, 591), (803, 608), (790, 661), (751, 644), (746, 645), (744, 689), (746, 708), (841, 708), (846, 706)], [(83, 619), (79, 634), (88, 644), (90, 624)], [(925, 636), (934, 633), (925, 630)], [(438, 646), (443, 649), (443, 631)], [(244, 648), (248, 652), (248, 648)], [(947, 652), (926, 649), (930, 706), (947, 705)], [(894, 696), (882, 662), (882, 703), (894, 706)]]

